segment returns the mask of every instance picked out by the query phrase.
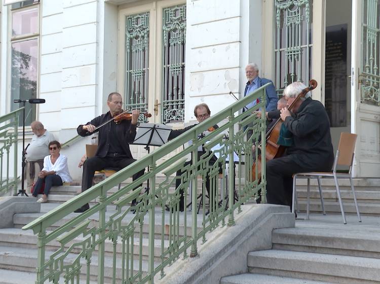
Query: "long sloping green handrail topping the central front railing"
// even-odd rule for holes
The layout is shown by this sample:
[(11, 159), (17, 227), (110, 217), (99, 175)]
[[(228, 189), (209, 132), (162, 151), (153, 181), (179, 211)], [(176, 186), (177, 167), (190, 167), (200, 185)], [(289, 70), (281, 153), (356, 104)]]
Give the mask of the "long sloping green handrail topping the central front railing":
[[(270, 84), (271, 83), (261, 86), (260, 88), (253, 91), (251, 94), (234, 102), (232, 105), (230, 105), (230, 107), (225, 108), (216, 115), (211, 116), (202, 123), (199, 123), (197, 126), (182, 133), (178, 137), (169, 141), (169, 143), (164, 144), (163, 146), (157, 148), (150, 154), (133, 162), (129, 166), (108, 177), (108, 179), (89, 188), (85, 192), (73, 197), (65, 203), (62, 203), (61, 205), (47, 212), (43, 216), (33, 220), (29, 224), (22, 227), (22, 229), (32, 229), (34, 233), (43, 232), (50, 225), (56, 223), (63, 217), (67, 216), (67, 211), (72, 212), (75, 209), (81, 207), (84, 203), (88, 203), (91, 200), (94, 200), (95, 198), (101, 196), (101, 194), (104, 194), (105, 192), (103, 191), (103, 188), (106, 188), (105, 185), (111, 185), (109, 188), (118, 185), (119, 183), (125, 180), (125, 176), (130, 174), (130, 171), (133, 170), (136, 172), (138, 170), (142, 170), (143, 168), (147, 168), (148, 165), (153, 164), (155, 161), (172, 152), (173, 148), (181, 147), (183, 144), (187, 143), (187, 141), (192, 140), (193, 137), (205, 131), (208, 127), (215, 125), (217, 122), (220, 122), (221, 120), (228, 118), (229, 116), (233, 116), (236, 112), (242, 110), (245, 107), (245, 105), (247, 105), (249, 102), (254, 101), (257, 98), (260, 98), (260, 94), (265, 94), (265, 88), (267, 88), (267, 86)], [(130, 174), (128, 176), (132, 175)]]

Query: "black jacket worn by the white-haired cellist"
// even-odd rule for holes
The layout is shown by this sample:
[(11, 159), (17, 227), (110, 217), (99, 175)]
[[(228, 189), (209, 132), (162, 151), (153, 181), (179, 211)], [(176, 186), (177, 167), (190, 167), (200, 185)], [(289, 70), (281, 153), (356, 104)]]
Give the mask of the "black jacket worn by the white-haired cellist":
[(294, 146), (287, 148), (287, 155), (292, 155), (306, 171), (331, 170), (334, 153), (330, 122), (320, 101), (307, 98), (284, 124), (293, 133), (294, 141)]

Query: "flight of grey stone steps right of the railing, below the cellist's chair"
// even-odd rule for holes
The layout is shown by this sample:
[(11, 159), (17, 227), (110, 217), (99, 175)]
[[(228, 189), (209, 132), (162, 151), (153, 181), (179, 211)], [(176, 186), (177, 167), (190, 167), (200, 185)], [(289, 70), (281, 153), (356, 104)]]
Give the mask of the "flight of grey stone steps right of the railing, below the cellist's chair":
[(220, 283), (380, 283), (380, 221), (355, 218), (343, 225), (338, 215), (312, 215), (273, 230), (272, 250), (248, 253), (249, 273)]

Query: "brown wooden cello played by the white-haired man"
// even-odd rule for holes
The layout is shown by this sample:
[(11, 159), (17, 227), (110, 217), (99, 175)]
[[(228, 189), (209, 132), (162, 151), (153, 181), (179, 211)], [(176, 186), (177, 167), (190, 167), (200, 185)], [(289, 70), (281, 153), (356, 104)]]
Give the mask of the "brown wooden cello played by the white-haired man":
[[(314, 90), (317, 87), (317, 81), (310, 80), (309, 87), (303, 89), (294, 99), (294, 101), (289, 105), (288, 110), (291, 111), (296, 102), (302, 98), (305, 97), (305, 95), (311, 91)], [(265, 143), (265, 160), (269, 161), (272, 159), (276, 159), (278, 157), (281, 157), (284, 155), (285, 146), (281, 146), (277, 144), (278, 138), (280, 136), (280, 129), (282, 126), (282, 119), (281, 117), (277, 120), (274, 126), (267, 132), (266, 136), (266, 143)], [(259, 145), (260, 147), (260, 145)], [(252, 165), (252, 181), (256, 180), (256, 168), (257, 168), (257, 177), (258, 179), (261, 178), (261, 155), (257, 157), (257, 160), (253, 162)]]

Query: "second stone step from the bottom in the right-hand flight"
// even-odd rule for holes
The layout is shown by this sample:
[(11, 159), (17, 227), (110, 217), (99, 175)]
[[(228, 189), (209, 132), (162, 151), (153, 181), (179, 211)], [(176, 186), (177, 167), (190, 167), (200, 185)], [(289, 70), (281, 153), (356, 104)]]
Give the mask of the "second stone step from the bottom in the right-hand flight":
[(380, 259), (268, 250), (250, 252), (251, 273), (342, 284), (380, 283)]

